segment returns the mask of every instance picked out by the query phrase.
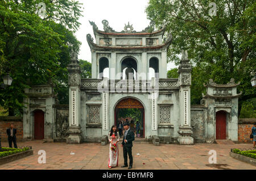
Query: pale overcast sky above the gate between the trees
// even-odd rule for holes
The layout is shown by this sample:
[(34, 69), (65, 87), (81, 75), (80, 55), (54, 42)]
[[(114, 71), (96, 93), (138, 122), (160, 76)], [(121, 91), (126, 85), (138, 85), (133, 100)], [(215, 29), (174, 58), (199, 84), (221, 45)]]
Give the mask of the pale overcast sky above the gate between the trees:
[[(115, 31), (122, 31), (125, 24), (133, 24), (135, 31), (142, 31), (146, 28), (150, 20), (147, 19), (145, 9), (148, 0), (79, 0), (84, 7), (83, 17), (80, 18), (80, 29), (76, 32), (76, 37), (81, 41), (79, 59), (92, 62), (89, 45), (86, 35), (90, 33), (95, 42), (93, 28), (89, 20), (97, 24), (99, 30), (103, 30), (102, 20), (106, 19), (109, 26)], [(174, 63), (167, 64), (167, 70), (175, 68)]]

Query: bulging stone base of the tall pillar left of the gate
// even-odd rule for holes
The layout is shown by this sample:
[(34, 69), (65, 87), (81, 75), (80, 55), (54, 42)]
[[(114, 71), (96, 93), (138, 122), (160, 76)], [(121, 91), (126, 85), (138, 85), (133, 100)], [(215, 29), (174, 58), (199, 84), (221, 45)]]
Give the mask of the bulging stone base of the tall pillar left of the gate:
[(81, 137), (81, 127), (69, 127), (68, 129), (69, 136), (67, 137), (66, 143), (67, 144), (81, 144), (82, 137)]

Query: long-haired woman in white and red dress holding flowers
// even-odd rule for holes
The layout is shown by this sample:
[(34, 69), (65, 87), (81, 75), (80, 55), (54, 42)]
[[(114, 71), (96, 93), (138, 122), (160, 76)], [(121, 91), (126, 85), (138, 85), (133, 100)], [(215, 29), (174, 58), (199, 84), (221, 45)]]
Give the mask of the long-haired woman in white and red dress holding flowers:
[(117, 127), (113, 125), (109, 132), (109, 169), (112, 167), (118, 166), (118, 142), (119, 142), (119, 133)]

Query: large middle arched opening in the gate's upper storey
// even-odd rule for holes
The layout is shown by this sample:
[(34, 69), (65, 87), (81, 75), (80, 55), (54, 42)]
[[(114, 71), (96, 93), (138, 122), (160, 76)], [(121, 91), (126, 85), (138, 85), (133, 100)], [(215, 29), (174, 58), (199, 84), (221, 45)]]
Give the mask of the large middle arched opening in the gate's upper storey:
[(121, 72), (122, 72), (122, 79), (136, 79), (137, 78), (137, 62), (131, 57), (125, 58), (125, 60), (122, 61)]

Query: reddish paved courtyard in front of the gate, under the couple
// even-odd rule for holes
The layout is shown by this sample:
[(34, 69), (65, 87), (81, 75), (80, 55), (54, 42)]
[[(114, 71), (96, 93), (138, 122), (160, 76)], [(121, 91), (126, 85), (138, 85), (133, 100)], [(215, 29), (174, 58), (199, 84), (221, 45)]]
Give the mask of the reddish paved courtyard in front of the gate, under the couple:
[[(83, 143), (68, 145), (44, 141), (19, 142), (18, 146), (32, 146), (34, 155), (14, 162), (0, 165), (0, 169), (108, 169), (109, 145), (100, 143)], [(7, 142), (2, 142), (7, 146)], [(249, 163), (238, 161), (229, 156), (231, 148), (251, 149), (251, 144), (218, 145), (195, 144), (191, 146), (147, 143), (134, 143), (133, 169), (253, 169)], [(122, 147), (119, 145), (119, 163), (114, 169), (126, 170), (123, 165)], [(38, 163), (38, 151), (46, 151), (46, 164)], [(209, 150), (217, 151), (217, 164), (209, 164)], [(71, 151), (75, 154), (70, 154)], [(138, 155), (137, 155), (138, 154)]]

